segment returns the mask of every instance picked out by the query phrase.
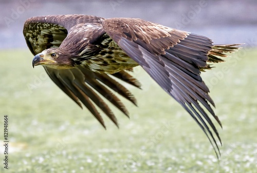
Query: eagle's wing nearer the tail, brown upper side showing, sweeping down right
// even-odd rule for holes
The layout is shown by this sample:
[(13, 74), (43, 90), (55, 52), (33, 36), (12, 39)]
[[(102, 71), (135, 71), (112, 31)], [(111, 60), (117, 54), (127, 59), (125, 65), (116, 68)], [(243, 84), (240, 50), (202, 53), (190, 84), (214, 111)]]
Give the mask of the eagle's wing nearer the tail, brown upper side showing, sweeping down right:
[(212, 131), (221, 142), (219, 134), (199, 105), (201, 103), (221, 125), (209, 105), (214, 106), (208, 95), (209, 89), (200, 77), (200, 68), (207, 66), (212, 41), (137, 18), (109, 18), (102, 25), (119, 47), (190, 113), (206, 133), (215, 152), (216, 148), (219, 152)]

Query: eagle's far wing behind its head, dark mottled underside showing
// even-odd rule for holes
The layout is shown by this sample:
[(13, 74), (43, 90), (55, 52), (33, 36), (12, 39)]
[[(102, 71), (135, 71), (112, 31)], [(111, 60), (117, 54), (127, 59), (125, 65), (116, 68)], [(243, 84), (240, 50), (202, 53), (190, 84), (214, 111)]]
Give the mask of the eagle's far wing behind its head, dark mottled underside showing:
[[(31, 17), (24, 24), (23, 34), (30, 51), (35, 55), (50, 47), (59, 47), (73, 26), (80, 23), (101, 24), (102, 21), (103, 18), (88, 15), (48, 15)], [(136, 105), (136, 99), (132, 93), (115, 80), (115, 78), (118, 78), (140, 88), (139, 82), (125, 71), (107, 75), (98, 74), (80, 67), (67, 70), (44, 68), (57, 86), (80, 107), (82, 107), (82, 102), (104, 127), (104, 121), (96, 106), (117, 126), (118, 122), (114, 113), (100, 95), (114, 104), (126, 114), (126, 116), (128, 116), (126, 107), (112, 90), (118, 92)], [(111, 76), (115, 76), (115, 78)]]

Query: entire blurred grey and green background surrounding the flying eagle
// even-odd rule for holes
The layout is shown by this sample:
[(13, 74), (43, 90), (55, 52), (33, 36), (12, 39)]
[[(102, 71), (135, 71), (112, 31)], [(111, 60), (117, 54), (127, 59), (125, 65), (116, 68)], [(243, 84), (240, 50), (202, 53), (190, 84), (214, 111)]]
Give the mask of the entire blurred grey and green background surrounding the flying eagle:
[[(134, 75), (142, 90), (127, 86), (138, 107), (123, 99), (130, 120), (114, 109), (120, 128), (103, 117), (104, 130), (42, 67), (31, 66), (33, 55), (23, 37), (24, 22), (49, 14), (138, 17), (208, 36), (215, 44), (245, 43), (225, 63), (201, 74), (223, 123), (221, 129), (215, 122), (223, 141), (221, 160), (189, 114), (140, 67)], [(255, 173), (256, 46), (256, 0), (0, 0), (0, 123), (7, 114), (8, 172)], [(3, 151), (1, 144), (0, 160)], [(1, 166), (0, 172), (4, 171)]]

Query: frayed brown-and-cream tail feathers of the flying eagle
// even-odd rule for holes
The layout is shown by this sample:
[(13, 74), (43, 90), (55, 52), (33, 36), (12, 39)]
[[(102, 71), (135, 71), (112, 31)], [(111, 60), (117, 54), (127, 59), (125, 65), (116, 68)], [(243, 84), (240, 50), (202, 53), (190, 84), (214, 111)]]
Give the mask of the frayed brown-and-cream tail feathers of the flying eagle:
[[(224, 62), (223, 59), (219, 57), (227, 57), (228, 55), (226, 53), (232, 53), (240, 49), (241, 44), (229, 44), (229, 45), (213, 45), (212, 49), (208, 52), (208, 61), (207, 63), (221, 63)], [(219, 57), (218, 57), (219, 56)], [(204, 69), (211, 69), (211, 64), (207, 64), (207, 67), (204, 67)]]

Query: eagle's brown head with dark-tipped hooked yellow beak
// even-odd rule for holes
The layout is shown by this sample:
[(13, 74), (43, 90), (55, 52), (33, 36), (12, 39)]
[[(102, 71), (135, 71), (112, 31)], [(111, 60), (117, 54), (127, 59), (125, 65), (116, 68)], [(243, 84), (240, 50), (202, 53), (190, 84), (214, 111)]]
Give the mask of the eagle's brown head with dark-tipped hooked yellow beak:
[(32, 66), (43, 65), (54, 69), (69, 69), (74, 68), (75, 63), (59, 48), (49, 48), (36, 54), (32, 61)]

